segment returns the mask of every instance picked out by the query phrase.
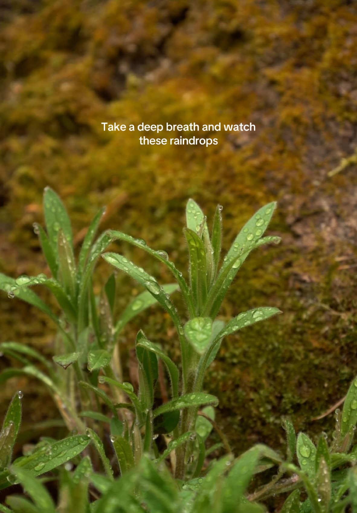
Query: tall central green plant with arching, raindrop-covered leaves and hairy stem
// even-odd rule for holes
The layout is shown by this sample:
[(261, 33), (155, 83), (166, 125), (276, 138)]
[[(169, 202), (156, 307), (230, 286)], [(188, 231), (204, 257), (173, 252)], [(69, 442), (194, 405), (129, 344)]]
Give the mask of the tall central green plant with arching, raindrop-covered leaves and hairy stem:
[[(269, 203), (262, 207), (244, 225), (220, 266), (222, 207), (218, 206), (216, 209), (210, 236), (202, 210), (197, 203), (189, 200), (186, 207), (186, 228), (184, 229), (189, 255), (188, 283), (182, 272), (169, 261), (164, 251), (154, 250), (144, 241), (138, 241), (119, 231), (108, 232), (111, 239), (126, 241), (141, 247), (169, 268), (180, 287), (188, 314), (188, 319), (180, 318), (169, 295), (144, 269), (139, 268), (120, 254), (104, 253), (103, 258), (108, 263), (129, 274), (153, 295), (169, 313), (177, 330), (181, 349), (181, 372), (155, 344), (145, 337), (142, 331), (138, 333), (136, 355), (139, 362), (140, 387), (138, 397), (133, 394), (132, 390), (129, 397), (132, 400), (139, 427), (145, 426), (144, 439), (141, 440), (141, 437), (137, 435), (133, 441), (135, 450), (140, 454), (143, 448), (151, 449), (151, 435), (155, 432), (155, 419), (161, 417), (161, 422), (170, 426), (170, 429), (167, 427), (167, 431), (174, 432), (174, 440), (180, 441), (176, 447), (175, 471), (175, 475), (179, 479), (184, 479), (187, 471), (190, 473), (189, 463), (192, 461), (194, 453), (197, 450), (204, 452), (204, 445), (200, 443), (199, 438), (193, 443), (188, 440), (188, 433), (195, 431), (198, 408), (202, 405), (217, 405), (218, 403), (216, 398), (208, 396), (202, 390), (205, 371), (215, 359), (223, 337), (279, 313), (277, 308), (259, 307), (242, 312), (227, 323), (217, 319), (217, 313), (225, 294), (248, 254), (265, 243), (280, 241), (276, 236), (263, 237), (275, 206), (275, 203)], [(153, 408), (154, 387), (157, 381), (157, 358), (162, 359), (169, 372), (172, 400)], [(123, 388), (122, 384), (113, 381), (111, 377), (101, 376), (99, 379), (103, 383)], [(203, 455), (199, 456), (199, 460), (202, 458), (204, 458)]]

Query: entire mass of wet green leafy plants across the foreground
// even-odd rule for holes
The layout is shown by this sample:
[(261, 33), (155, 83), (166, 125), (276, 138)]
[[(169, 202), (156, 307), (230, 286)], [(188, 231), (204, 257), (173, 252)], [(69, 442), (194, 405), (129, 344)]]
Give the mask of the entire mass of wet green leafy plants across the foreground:
[[(256, 212), (220, 265), (222, 208), (216, 209), (210, 233), (202, 210), (189, 200), (184, 230), (189, 255), (186, 281), (164, 251), (150, 248), (143, 240), (107, 230), (94, 241), (102, 211), (95, 216), (76, 261), (66, 209), (53, 190), (45, 190), (47, 232), (38, 225), (35, 231), (52, 277), (22, 275), (14, 280), (0, 275), (0, 287), (10, 298), (16, 296), (50, 316), (58, 327), (58, 353), (53, 356), (54, 362), (49, 362), (28, 346), (4, 342), (0, 344), (2, 351), (23, 367), (6, 369), (0, 374), (0, 382), (17, 374), (41, 380), (49, 388), (71, 435), (60, 441), (42, 439), (30, 453), (11, 464), (21, 419), (22, 392), (15, 394), (0, 434), (0, 487), (22, 483), (33, 502), (9, 496), (11, 509), (0, 509), (14, 513), (54, 511), (56, 506), (49, 492), (36, 480), (50, 471), (59, 480), (58, 511), (73, 509), (75, 505), (84, 513), (199, 513), (209, 508), (216, 513), (258, 513), (264, 507), (256, 500), (289, 490), (295, 491), (284, 504), (285, 513), (327, 513), (344, 511), (349, 505), (355, 507), (357, 477), (349, 466), (357, 461), (357, 451), (349, 449), (357, 422), (357, 380), (350, 387), (342, 414), (338, 414), (330, 447), (321, 437), (316, 448), (304, 433), (296, 441), (292, 424), (285, 420), (286, 461), (263, 445), (251, 448), (235, 460), (219, 429), (223, 443), (206, 449), (212, 426), (217, 428), (213, 406), (217, 406), (218, 399), (203, 391), (203, 380), (223, 337), (279, 312), (277, 308), (260, 307), (242, 312), (228, 322), (217, 319), (227, 290), (250, 251), (264, 243), (279, 242), (277, 237), (263, 237), (274, 208), (271, 203)], [(160, 285), (127, 258), (106, 252), (114, 241), (142, 248), (171, 271), (176, 283)], [(93, 289), (93, 271), (101, 255), (146, 289), (115, 321), (114, 275), (99, 297)], [(33, 292), (33, 285), (51, 290), (61, 308), (59, 315)], [(176, 289), (180, 290), (186, 307), (184, 319), (170, 297)], [(177, 330), (181, 364), (172, 361), (140, 330), (135, 345), (139, 376), (135, 391), (132, 384), (122, 380), (118, 333), (134, 315), (154, 303), (170, 315)], [(158, 405), (160, 362), (167, 370), (171, 398)], [(222, 447), (227, 455), (209, 462), (209, 453)], [(86, 455), (80, 459), (83, 450)], [(293, 461), (295, 453), (299, 466)], [(251, 477), (276, 465), (277, 476), (248, 500), (245, 491)], [(303, 503), (302, 487), (308, 496)]]

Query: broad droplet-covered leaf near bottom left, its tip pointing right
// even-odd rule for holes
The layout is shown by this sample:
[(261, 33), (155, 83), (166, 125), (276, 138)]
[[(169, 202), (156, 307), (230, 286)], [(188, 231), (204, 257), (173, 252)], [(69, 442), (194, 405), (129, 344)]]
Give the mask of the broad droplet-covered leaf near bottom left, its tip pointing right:
[(87, 447), (90, 441), (91, 439), (85, 435), (65, 438), (34, 452), (30, 456), (16, 460), (13, 467), (29, 470), (34, 477), (40, 476), (72, 460)]

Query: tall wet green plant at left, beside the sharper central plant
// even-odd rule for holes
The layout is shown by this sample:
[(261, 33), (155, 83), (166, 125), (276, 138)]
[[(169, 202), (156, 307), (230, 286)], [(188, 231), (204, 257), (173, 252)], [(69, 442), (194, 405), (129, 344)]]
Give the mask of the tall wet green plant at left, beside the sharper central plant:
[[(100, 254), (112, 242), (108, 232), (95, 240), (104, 209), (99, 210), (93, 219), (77, 262), (70, 219), (58, 195), (49, 187), (44, 193), (44, 213), (47, 233), (38, 224), (34, 225), (34, 230), (51, 278), (41, 273), (35, 277), (22, 275), (12, 279), (0, 273), (0, 289), (8, 292), (10, 298), (16, 297), (37, 307), (55, 323), (58, 329), (56, 354), (53, 356), (55, 363), (27, 345), (4, 342), (0, 344), (0, 350), (24, 366), (6, 369), (0, 374), (0, 382), (18, 374), (39, 379), (48, 387), (68, 429), (84, 432), (85, 412), (92, 410), (94, 403), (88, 390), (79, 388), (78, 383), (96, 385), (100, 368), (106, 368), (110, 376), (122, 380), (117, 342), (119, 333), (135, 315), (155, 304), (156, 300), (144, 291), (115, 319), (117, 290), (114, 275), (110, 276), (99, 297), (95, 297), (92, 285)], [(58, 315), (30, 288), (35, 285), (43, 285), (53, 293), (60, 307)], [(176, 288), (176, 285), (164, 286), (166, 293)], [(120, 400), (122, 394), (117, 392), (115, 397)], [(112, 411), (115, 421), (117, 413), (114, 407)]]

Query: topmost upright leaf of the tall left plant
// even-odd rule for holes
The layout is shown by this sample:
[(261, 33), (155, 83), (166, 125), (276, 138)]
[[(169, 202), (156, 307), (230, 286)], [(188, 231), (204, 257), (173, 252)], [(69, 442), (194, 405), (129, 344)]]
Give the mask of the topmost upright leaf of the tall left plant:
[(57, 254), (57, 239), (60, 228), (73, 248), (72, 227), (67, 210), (58, 194), (50, 187), (45, 188), (44, 211), (47, 233), (54, 253)]

